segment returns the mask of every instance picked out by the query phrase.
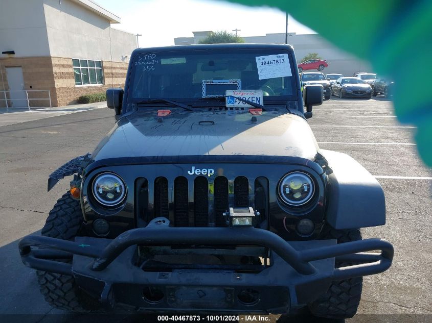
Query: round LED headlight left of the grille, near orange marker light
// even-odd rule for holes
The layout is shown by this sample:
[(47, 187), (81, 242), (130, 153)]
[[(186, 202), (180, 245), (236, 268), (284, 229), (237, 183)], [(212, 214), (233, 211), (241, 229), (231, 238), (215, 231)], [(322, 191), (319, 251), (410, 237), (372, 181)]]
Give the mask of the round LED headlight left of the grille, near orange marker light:
[(113, 173), (102, 173), (93, 181), (93, 195), (100, 204), (116, 206), (126, 196), (126, 186), (122, 179)]

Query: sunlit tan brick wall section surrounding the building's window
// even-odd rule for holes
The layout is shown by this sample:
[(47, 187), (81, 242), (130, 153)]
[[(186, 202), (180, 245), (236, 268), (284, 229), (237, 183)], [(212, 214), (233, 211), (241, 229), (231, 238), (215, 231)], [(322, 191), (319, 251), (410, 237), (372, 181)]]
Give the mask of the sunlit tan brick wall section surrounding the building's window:
[(84, 94), (105, 92), (109, 87), (124, 87), (128, 63), (103, 61), (104, 84), (76, 86), (72, 59), (52, 58), (56, 87), (55, 103), (58, 106), (74, 104)]

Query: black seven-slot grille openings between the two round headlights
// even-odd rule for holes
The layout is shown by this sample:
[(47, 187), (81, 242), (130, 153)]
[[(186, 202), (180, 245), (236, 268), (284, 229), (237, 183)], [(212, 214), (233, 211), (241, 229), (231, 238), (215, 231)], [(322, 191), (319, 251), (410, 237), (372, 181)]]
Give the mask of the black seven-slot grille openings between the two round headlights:
[(249, 183), (243, 176), (232, 182), (217, 176), (210, 185), (206, 176), (180, 176), (173, 182), (158, 177), (154, 180), (153, 207), (148, 199), (148, 185), (145, 178), (137, 179), (135, 203), (139, 226), (141, 222), (145, 223), (147, 214), (151, 218), (167, 217), (175, 227), (226, 227), (223, 212), (228, 211), (230, 206), (254, 207), (260, 212), (261, 219), (268, 213), (268, 180), (264, 177)]

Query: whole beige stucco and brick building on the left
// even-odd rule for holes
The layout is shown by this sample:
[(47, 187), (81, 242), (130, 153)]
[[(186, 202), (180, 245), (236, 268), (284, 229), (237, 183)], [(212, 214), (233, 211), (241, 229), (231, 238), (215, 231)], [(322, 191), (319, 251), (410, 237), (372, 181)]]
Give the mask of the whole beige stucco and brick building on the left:
[[(2, 91), (49, 90), (56, 107), (124, 86), (137, 39), (111, 28), (120, 23), (116, 15), (90, 0), (2, 0), (0, 6), (0, 107)], [(19, 100), (25, 95), (6, 92), (8, 106), (27, 106)], [(48, 92), (28, 95), (46, 98)]]

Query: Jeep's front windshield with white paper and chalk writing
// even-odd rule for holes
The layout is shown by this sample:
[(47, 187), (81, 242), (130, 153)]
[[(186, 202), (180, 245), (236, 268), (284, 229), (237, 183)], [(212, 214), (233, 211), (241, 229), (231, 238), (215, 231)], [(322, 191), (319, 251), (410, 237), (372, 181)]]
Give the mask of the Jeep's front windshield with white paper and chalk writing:
[[(265, 101), (297, 97), (290, 53), (226, 49), (151, 52), (135, 56), (129, 102), (148, 98), (197, 101), (226, 90), (262, 90)], [(291, 98), (290, 98), (291, 96)]]

